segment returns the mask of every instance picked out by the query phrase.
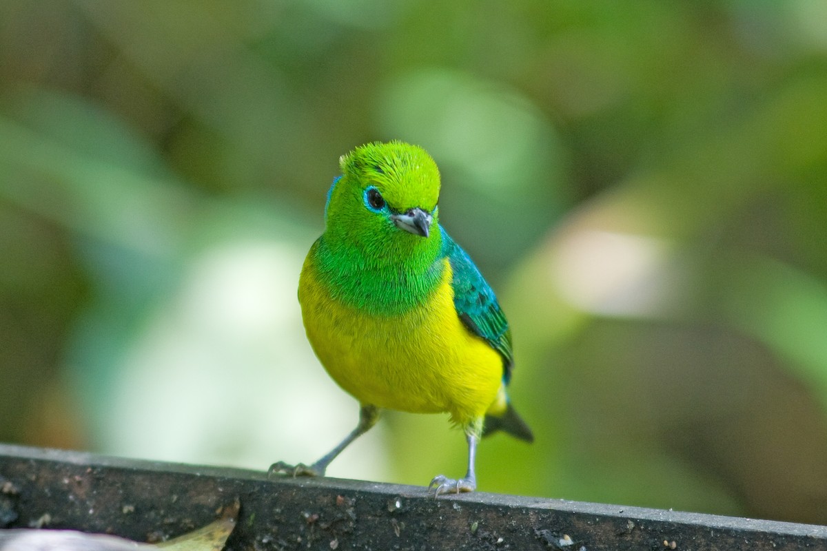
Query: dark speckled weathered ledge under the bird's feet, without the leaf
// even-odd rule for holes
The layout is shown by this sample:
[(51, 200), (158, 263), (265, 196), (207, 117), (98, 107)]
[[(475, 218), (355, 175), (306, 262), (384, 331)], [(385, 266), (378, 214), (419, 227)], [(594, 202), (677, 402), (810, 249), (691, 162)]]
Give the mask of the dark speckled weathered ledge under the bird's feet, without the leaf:
[[(227, 549), (825, 549), (827, 527), (0, 444), (0, 525), (157, 541), (241, 501)], [(566, 539), (568, 538), (568, 539)]]

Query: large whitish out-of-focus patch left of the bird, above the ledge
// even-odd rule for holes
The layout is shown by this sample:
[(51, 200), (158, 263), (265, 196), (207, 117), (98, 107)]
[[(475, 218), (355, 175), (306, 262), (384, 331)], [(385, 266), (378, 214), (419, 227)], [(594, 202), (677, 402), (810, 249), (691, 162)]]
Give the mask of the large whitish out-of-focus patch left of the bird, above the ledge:
[[(266, 241), (211, 249), (136, 338), (112, 388), (108, 453), (266, 469), (311, 463), (356, 426), (327, 377), (296, 296), (304, 250)], [(383, 427), (328, 474), (385, 480)]]

